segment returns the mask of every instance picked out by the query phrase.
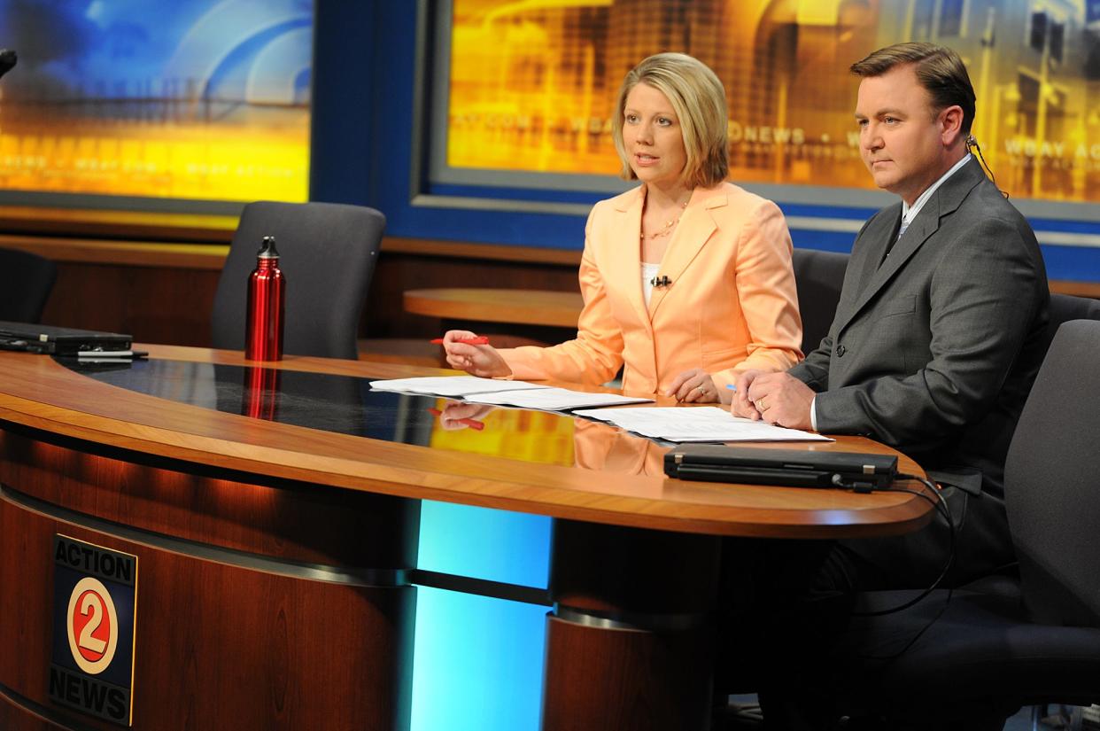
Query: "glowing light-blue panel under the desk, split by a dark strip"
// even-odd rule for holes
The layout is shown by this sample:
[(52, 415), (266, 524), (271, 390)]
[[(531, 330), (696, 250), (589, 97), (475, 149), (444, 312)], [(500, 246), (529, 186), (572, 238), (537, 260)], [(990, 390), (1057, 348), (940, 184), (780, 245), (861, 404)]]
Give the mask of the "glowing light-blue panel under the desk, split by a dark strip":
[[(551, 520), (425, 501), (418, 567), (546, 588)], [(417, 588), (413, 731), (537, 729), (541, 604)]]

